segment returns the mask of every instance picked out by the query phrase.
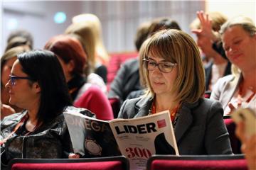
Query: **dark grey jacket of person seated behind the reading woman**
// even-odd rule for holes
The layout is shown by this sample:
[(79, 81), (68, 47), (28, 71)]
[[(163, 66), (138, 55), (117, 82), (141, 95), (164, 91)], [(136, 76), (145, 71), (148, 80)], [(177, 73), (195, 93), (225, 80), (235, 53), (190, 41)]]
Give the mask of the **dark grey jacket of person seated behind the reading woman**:
[(108, 97), (119, 96), (122, 104), (132, 91), (142, 89), (139, 82), (139, 59), (127, 60), (117, 72), (110, 86)]

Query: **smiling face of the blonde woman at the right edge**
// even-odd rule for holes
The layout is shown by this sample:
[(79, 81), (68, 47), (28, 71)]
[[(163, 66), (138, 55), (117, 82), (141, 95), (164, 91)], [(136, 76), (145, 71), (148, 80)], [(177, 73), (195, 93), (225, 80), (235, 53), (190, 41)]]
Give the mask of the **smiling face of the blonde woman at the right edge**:
[(250, 36), (241, 26), (225, 30), (222, 36), (225, 54), (242, 71), (256, 67), (256, 35)]

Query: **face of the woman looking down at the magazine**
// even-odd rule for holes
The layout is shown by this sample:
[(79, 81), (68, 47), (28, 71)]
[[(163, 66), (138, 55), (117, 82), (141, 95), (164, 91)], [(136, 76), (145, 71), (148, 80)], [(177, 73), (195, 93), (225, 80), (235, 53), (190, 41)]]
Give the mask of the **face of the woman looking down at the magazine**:
[[(149, 61), (151, 62), (169, 62), (160, 57), (154, 57), (149, 55)], [(149, 81), (151, 88), (153, 89), (156, 95), (169, 95), (171, 89), (174, 86), (174, 83), (178, 76), (178, 68), (174, 67), (171, 72), (161, 72), (158, 67), (155, 67), (154, 70), (149, 71)]]

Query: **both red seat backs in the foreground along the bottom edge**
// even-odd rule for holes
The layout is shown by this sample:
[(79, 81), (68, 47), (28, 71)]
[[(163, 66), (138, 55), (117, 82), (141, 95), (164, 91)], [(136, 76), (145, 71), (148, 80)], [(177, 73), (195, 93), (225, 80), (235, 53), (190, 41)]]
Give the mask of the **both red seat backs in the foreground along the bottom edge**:
[[(124, 156), (87, 159), (13, 159), (10, 170), (129, 170), (129, 161)], [(234, 155), (153, 155), (147, 170), (246, 170), (243, 154)]]

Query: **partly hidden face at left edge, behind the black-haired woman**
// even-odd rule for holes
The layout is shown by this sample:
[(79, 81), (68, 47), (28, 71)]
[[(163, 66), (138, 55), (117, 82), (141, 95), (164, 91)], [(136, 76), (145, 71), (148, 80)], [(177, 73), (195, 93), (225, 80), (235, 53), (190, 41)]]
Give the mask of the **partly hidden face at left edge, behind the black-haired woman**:
[(9, 81), (9, 75), (11, 74), (11, 68), (13, 67), (15, 60), (17, 60), (17, 57), (12, 57), (11, 59), (7, 60), (2, 67), (1, 84), (3, 86), (5, 86)]

